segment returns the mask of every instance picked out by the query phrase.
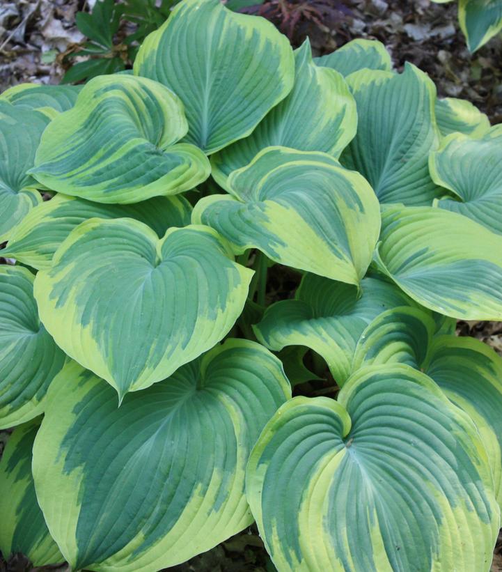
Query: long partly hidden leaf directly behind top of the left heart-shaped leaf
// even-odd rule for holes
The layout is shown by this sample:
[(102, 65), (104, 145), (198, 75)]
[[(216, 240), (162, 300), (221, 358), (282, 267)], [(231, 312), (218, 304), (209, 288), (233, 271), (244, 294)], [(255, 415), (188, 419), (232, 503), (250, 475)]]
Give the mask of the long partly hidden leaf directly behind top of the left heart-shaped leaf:
[(103, 205), (75, 196), (56, 194), (31, 210), (10, 233), (3, 256), (32, 268), (49, 268), (61, 242), (84, 220), (130, 217), (148, 224), (158, 236), (170, 226), (186, 226), (191, 206), (182, 196), (154, 196), (131, 205)]

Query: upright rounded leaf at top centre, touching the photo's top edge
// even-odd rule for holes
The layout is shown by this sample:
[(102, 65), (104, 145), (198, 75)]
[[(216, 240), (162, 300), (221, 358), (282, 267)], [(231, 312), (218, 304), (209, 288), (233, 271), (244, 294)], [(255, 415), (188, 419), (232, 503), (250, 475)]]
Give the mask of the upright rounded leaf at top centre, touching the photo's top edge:
[(288, 95), (295, 61), (288, 39), (267, 20), (219, 0), (184, 0), (143, 42), (134, 73), (182, 99), (186, 139), (209, 154), (249, 135)]

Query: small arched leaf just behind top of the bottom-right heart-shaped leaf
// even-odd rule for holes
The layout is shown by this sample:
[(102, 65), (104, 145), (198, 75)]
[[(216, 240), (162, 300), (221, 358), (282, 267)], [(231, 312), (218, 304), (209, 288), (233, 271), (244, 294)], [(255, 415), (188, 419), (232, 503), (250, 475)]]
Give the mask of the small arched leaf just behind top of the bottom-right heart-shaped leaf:
[(421, 369), (435, 330), (432, 317), (419, 308), (387, 310), (361, 334), (352, 371), (362, 366), (392, 363)]

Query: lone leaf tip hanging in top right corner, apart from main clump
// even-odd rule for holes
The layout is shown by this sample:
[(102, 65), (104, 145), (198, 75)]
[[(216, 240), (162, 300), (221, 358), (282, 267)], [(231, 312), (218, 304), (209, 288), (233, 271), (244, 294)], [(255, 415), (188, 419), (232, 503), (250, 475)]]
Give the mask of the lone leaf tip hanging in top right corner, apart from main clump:
[(502, 0), (459, 0), (458, 20), (471, 52), (502, 29)]

